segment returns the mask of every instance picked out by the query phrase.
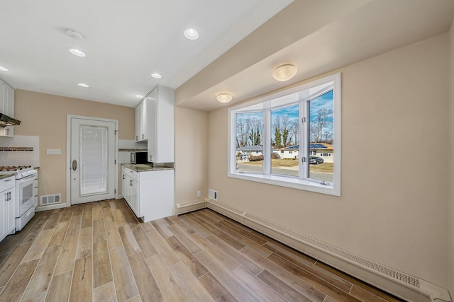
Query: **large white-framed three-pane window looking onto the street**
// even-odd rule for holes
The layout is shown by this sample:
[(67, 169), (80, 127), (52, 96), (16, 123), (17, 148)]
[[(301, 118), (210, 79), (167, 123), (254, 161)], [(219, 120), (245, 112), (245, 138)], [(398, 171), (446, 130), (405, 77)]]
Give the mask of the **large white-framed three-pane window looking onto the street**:
[(228, 176), (341, 194), (341, 74), (228, 110)]

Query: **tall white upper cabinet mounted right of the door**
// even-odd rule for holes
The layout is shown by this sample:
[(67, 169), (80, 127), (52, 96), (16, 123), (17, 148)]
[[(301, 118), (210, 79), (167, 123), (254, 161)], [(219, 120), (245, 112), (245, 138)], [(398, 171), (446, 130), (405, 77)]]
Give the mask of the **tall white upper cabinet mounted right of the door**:
[(148, 99), (148, 161), (175, 161), (175, 89), (157, 86)]

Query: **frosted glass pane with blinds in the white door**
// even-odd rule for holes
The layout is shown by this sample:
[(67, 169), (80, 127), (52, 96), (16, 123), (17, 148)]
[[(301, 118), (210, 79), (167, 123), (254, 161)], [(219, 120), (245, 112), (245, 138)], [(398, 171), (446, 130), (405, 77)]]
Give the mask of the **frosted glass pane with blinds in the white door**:
[(107, 128), (81, 126), (80, 195), (107, 192)]

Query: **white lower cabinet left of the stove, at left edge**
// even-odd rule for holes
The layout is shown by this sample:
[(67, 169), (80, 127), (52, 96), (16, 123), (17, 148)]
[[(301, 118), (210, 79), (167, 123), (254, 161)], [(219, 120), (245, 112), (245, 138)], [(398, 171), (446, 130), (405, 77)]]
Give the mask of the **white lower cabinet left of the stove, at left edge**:
[(14, 175), (0, 180), (0, 241), (16, 229)]

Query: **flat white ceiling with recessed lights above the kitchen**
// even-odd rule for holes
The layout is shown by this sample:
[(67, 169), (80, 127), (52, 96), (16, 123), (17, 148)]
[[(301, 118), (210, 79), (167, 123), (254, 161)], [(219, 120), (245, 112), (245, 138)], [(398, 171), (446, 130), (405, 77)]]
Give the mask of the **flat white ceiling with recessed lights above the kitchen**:
[[(158, 84), (177, 88), (292, 1), (1, 1), (0, 66), (9, 71), (0, 79), (16, 89), (134, 107), (134, 95)], [(68, 37), (68, 28), (84, 39)], [(184, 38), (187, 28), (199, 40)], [(70, 47), (87, 56), (75, 57)]]

